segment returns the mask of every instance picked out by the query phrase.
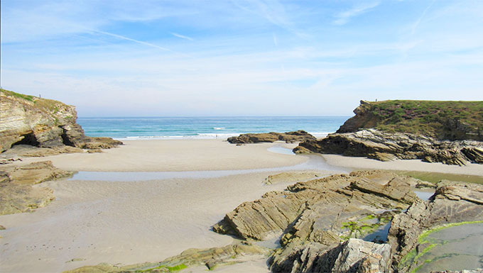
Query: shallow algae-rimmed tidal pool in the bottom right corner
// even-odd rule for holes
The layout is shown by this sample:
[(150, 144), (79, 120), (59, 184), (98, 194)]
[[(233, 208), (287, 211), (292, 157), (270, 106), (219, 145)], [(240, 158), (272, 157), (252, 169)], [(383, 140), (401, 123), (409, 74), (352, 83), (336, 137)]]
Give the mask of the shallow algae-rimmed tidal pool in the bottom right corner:
[(434, 247), (418, 257), (424, 261), (418, 273), (483, 267), (483, 223), (444, 228), (430, 233), (425, 240)]

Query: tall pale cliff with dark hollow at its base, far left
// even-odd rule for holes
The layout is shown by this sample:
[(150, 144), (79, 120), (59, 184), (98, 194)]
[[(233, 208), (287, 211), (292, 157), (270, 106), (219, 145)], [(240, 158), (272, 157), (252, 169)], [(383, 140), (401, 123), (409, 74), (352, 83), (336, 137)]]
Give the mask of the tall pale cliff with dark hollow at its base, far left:
[(0, 108), (0, 152), (19, 144), (87, 149), (122, 144), (117, 140), (86, 137), (82, 127), (75, 123), (75, 107), (60, 101), (1, 89)]

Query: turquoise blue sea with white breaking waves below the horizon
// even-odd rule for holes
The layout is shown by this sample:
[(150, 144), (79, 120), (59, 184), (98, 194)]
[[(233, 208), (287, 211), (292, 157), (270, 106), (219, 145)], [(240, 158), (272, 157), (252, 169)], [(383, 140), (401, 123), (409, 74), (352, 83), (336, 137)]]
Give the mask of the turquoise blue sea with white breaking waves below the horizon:
[(241, 133), (335, 132), (349, 116), (77, 118), (89, 136), (126, 139), (227, 138)]

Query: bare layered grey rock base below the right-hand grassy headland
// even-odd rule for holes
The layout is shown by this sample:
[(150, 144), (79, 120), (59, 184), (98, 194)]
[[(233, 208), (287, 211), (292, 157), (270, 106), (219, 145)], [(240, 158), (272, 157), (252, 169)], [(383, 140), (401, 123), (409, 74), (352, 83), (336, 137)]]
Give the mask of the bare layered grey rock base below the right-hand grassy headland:
[(447, 165), (482, 164), (483, 142), (474, 140), (435, 140), (410, 133), (384, 133), (375, 129), (355, 133), (333, 133), (321, 140), (307, 140), (294, 152), (320, 152), (387, 161), (423, 160)]

